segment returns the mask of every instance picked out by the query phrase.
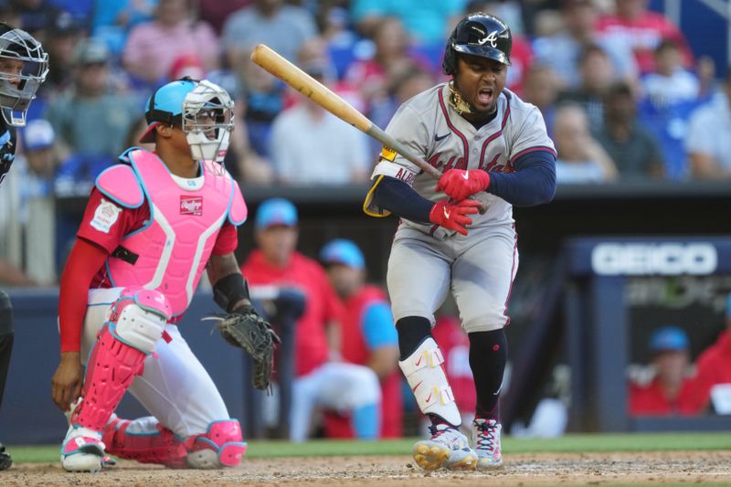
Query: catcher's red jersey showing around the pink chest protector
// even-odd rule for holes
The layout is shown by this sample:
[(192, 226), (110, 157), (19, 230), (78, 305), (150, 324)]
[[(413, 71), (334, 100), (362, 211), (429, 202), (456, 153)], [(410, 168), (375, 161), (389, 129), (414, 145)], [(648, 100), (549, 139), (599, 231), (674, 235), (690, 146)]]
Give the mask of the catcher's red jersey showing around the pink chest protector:
[[(118, 212), (116, 218), (113, 215), (111, 217), (113, 223), (111, 223), (109, 231), (104, 232), (91, 225), (91, 221), (94, 219), (97, 211), (105, 211), (108, 213)], [(125, 235), (142, 228), (149, 218), (150, 207), (147, 206), (146, 199), (140, 207), (124, 208), (111, 203), (110, 198), (102, 195), (95, 187), (91, 190), (89, 203), (86, 206), (86, 210), (84, 210), (84, 217), (81, 220), (81, 225), (76, 236), (98, 245), (102, 249), (105, 249), (107, 253), (111, 254), (114, 249), (117, 249), (117, 246), (119, 246)], [(226, 223), (224, 223), (221, 231), (218, 233), (212, 255), (226, 255), (236, 250), (237, 247), (238, 234), (236, 227), (226, 220)], [(90, 288), (111, 288), (111, 282), (107, 279), (106, 266), (99, 270), (93, 281), (91, 281)]]

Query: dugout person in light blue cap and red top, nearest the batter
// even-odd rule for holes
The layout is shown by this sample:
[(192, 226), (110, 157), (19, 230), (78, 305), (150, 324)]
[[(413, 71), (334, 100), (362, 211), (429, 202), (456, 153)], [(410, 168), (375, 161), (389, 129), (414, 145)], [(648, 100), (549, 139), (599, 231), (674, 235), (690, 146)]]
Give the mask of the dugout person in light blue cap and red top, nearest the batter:
[[(351, 240), (336, 238), (320, 252), (320, 261), (340, 299), (344, 314), (343, 358), (370, 367), (381, 383), (380, 438), (401, 437), (403, 400), (398, 370), (398, 336), (386, 293), (365, 282), (363, 252)], [(350, 418), (331, 413), (325, 416), (328, 438), (353, 438)]]

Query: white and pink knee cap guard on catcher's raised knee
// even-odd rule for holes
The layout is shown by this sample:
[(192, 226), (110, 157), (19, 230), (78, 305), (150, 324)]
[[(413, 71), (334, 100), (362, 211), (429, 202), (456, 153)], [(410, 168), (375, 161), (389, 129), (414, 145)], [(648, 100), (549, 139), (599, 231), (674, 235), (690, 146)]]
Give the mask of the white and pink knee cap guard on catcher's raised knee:
[(143, 288), (125, 288), (111, 305), (108, 322), (111, 335), (145, 354), (163, 335), (172, 308), (164, 294)]

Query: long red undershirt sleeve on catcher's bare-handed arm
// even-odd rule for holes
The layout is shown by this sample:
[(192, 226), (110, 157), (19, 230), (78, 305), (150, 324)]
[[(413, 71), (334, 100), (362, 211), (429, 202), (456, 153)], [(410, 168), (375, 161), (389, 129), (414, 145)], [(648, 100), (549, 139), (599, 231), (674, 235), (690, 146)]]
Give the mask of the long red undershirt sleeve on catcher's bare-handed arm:
[(81, 330), (89, 300), (89, 286), (104, 265), (108, 252), (98, 245), (77, 238), (61, 274), (58, 293), (58, 328), (61, 353), (81, 350)]

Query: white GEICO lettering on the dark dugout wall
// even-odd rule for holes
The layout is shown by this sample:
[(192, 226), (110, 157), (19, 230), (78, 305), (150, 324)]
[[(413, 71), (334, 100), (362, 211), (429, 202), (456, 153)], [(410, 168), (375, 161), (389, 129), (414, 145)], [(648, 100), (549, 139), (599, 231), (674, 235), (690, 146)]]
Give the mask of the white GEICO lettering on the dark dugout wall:
[(718, 263), (715, 247), (695, 243), (602, 243), (591, 251), (591, 268), (605, 276), (710, 274)]

